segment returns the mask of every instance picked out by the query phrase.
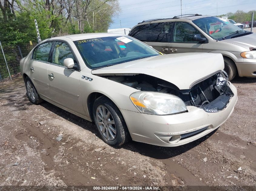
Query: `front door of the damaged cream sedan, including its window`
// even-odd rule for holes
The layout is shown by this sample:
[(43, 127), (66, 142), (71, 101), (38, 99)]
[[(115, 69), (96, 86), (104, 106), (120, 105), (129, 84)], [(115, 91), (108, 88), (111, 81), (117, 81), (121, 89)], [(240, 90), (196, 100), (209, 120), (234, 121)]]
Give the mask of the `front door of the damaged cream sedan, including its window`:
[(77, 63), (70, 46), (56, 41), (52, 47), (52, 63), (48, 66), (50, 99), (70, 110), (85, 114), (79, 89), (80, 71), (66, 68), (63, 63), (66, 58), (72, 58)]

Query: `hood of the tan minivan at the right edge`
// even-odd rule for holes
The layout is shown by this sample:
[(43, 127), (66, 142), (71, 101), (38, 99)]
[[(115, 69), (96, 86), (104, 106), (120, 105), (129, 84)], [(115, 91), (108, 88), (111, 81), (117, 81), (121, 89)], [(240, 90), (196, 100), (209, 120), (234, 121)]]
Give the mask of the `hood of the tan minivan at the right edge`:
[(236, 44), (244, 48), (250, 49), (251, 47), (256, 47), (256, 33), (248, 34), (242, 37), (231, 38), (222, 40), (223, 42)]

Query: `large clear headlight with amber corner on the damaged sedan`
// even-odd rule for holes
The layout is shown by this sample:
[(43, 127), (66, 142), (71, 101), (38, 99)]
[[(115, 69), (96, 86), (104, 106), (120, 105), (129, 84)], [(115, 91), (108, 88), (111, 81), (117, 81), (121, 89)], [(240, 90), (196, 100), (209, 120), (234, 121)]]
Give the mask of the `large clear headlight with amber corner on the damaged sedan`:
[(141, 113), (168, 115), (187, 111), (185, 103), (171, 94), (138, 91), (131, 94), (130, 99)]

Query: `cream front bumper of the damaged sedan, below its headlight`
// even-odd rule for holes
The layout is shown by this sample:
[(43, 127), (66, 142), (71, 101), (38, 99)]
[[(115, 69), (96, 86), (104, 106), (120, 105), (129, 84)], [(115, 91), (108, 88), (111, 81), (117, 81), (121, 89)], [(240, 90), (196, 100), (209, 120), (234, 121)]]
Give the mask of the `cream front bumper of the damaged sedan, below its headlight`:
[(188, 106), (186, 113), (165, 116), (121, 109), (132, 140), (175, 147), (192, 142), (214, 131), (231, 116), (237, 102), (237, 90), (231, 83), (229, 84), (234, 96), (231, 97), (224, 110), (216, 113), (208, 113), (194, 106)]

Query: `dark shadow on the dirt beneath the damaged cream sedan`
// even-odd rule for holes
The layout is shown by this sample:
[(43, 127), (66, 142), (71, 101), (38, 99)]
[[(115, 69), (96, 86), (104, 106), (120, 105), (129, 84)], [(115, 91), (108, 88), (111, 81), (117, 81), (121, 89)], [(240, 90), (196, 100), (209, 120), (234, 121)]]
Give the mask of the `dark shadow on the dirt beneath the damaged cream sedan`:
[[(65, 110), (62, 110), (61, 108), (54, 106), (53, 104), (48, 103), (46, 101), (44, 101), (40, 105), (42, 107), (44, 107), (45, 109), (55, 113), (56, 115), (61, 116), (62, 118), (70, 121), (71, 123), (74, 123), (75, 125), (80, 126), (81, 128), (83, 128), (85, 130), (91, 131), (96, 136), (98, 136), (98, 138), (103, 140), (101, 138), (101, 135), (99, 134), (98, 129), (95, 126), (94, 122), (89, 122), (85, 119), (82, 119), (82, 118), (80, 118), (74, 114), (71, 114)], [(149, 145), (149, 144), (145, 144), (145, 143), (141, 143), (141, 142), (130, 141), (121, 147), (115, 147), (115, 148), (116, 149), (123, 148), (126, 150), (130, 150), (132, 152), (138, 152), (142, 155), (145, 155), (145, 156), (148, 156), (151, 158), (155, 158), (155, 159), (167, 159), (167, 158), (172, 158), (177, 155), (180, 155), (180, 154), (196, 147), (201, 142), (204, 142), (207, 138), (209, 138), (212, 134), (214, 134), (215, 131), (209, 133), (208, 135), (205, 135), (204, 137), (202, 137), (194, 142), (188, 143), (186, 145), (178, 146), (178, 147), (160, 147), (160, 146)]]

